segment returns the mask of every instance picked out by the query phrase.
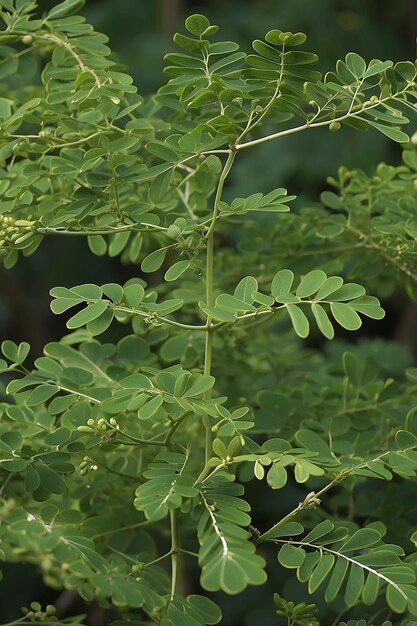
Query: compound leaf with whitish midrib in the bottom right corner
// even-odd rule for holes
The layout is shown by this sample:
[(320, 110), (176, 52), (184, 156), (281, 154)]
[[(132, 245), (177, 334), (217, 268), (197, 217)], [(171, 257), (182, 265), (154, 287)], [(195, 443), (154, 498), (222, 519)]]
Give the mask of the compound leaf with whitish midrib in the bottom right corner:
[(343, 525), (326, 520), (299, 541), (279, 542), (284, 543), (278, 554), (281, 565), (296, 569), (298, 579), (308, 582), (310, 593), (324, 585), (327, 602), (344, 591), (347, 606), (359, 599), (372, 605), (385, 588), (393, 611), (402, 613), (408, 605), (416, 609), (413, 568), (401, 560), (403, 550), (384, 544), (372, 525), (350, 533)]

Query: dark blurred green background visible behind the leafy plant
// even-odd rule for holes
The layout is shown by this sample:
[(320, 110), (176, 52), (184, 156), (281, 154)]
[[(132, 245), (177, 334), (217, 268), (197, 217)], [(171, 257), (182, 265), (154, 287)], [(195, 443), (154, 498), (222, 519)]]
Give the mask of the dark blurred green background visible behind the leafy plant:
[[(45, 10), (54, 4), (40, 1)], [(219, 24), (222, 38), (238, 41), (245, 51), (250, 50), (252, 39), (271, 28), (304, 31), (309, 37), (307, 49), (319, 55), (322, 71), (332, 69), (336, 60), (351, 50), (367, 61), (415, 58), (417, 0), (87, 0), (83, 10), (88, 21), (110, 37), (115, 59), (128, 68), (142, 95), (153, 93), (164, 81), (163, 55), (173, 49), (172, 35), (182, 28), (187, 15), (196, 12)], [(414, 130), (410, 128), (411, 133)], [(381, 161), (399, 164), (400, 160), (398, 144), (385, 140), (381, 134), (343, 129), (335, 139), (332, 133), (302, 133), (245, 153), (233, 172), (227, 195), (246, 196), (284, 186), (290, 194), (297, 194), (298, 206), (302, 206), (306, 200), (318, 200), (320, 192), (327, 188), (326, 177), (335, 175), (342, 164), (372, 173)], [(269, 166), (265, 167), (265, 163)], [(51, 287), (71, 286), (80, 281), (123, 282), (137, 272), (137, 267), (121, 266), (119, 259), (93, 257), (81, 238), (48, 238), (35, 255), (22, 258), (12, 270), (0, 269), (0, 336), (29, 341), (37, 356), (45, 343), (65, 332), (61, 317), (53, 316), (49, 310)], [(387, 321), (378, 323), (375, 330), (367, 325), (363, 332), (400, 338), (413, 349), (413, 337), (417, 335), (415, 305), (401, 313), (401, 299), (384, 304), (391, 309)], [(404, 354), (405, 365), (409, 361)], [(256, 489), (261, 511), (262, 489), (259, 484)], [(294, 492), (293, 496), (296, 504), (299, 494)], [(250, 494), (249, 499), (254, 497)], [(267, 497), (264, 503), (268, 503)], [(288, 509), (288, 502), (283, 503), (283, 509)], [(267, 517), (268, 510), (264, 514)], [(27, 605), (34, 599), (54, 600), (50, 592), (42, 590), (35, 568), (27, 567), (22, 572), (21, 567), (9, 566), (1, 584), (2, 622), (16, 617), (16, 607), (21, 604)], [(280, 575), (278, 568), (274, 575)], [(233, 619), (237, 621), (233, 624), (244, 626), (249, 620), (254, 623), (258, 614), (263, 626), (276, 623), (273, 610), (267, 615), (261, 608), (264, 599), (269, 599), (274, 591), (273, 576), (268, 587), (252, 589), (246, 595), (242, 615), (235, 613)], [(296, 589), (288, 591), (294, 600), (300, 593)], [(224, 623), (231, 625), (226, 603), (227, 600), (222, 602)], [(10, 607), (13, 613), (9, 612)], [(93, 610), (91, 626), (102, 623), (100, 611), (98, 607)]]

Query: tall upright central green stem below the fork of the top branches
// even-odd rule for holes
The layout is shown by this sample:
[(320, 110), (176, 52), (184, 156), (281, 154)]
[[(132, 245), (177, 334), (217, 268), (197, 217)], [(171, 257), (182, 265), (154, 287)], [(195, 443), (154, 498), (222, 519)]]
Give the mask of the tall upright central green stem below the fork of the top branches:
[[(213, 280), (213, 270), (214, 270), (214, 232), (216, 229), (217, 220), (219, 218), (219, 203), (222, 197), (224, 181), (228, 173), (230, 172), (233, 161), (235, 160), (236, 151), (230, 150), (227, 156), (226, 163), (224, 164), (222, 173), (220, 174), (219, 184), (217, 185), (217, 191), (214, 198), (214, 207), (213, 207), (213, 217), (206, 235), (206, 246), (207, 246), (207, 256), (206, 256), (206, 303), (208, 306), (214, 305), (214, 280)], [(206, 345), (204, 351), (204, 376), (210, 376), (211, 373), (211, 360), (212, 360), (212, 352), (213, 352), (213, 333), (214, 328), (212, 326), (212, 318), (210, 315), (207, 315), (206, 320)], [(207, 391), (205, 394), (205, 399), (210, 398), (210, 391)], [(206, 429), (206, 444), (205, 444), (205, 462), (207, 463), (208, 459), (211, 455), (211, 422), (209, 415), (204, 415), (203, 417), (204, 427)]]

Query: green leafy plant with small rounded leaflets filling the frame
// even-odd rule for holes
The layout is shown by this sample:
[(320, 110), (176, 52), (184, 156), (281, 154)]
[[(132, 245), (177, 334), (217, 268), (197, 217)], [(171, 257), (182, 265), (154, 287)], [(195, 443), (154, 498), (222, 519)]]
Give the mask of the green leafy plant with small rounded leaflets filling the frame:
[[(70, 332), (34, 361), (2, 343), (1, 558), (116, 626), (219, 605), (224, 624), (417, 624), (417, 368), (328, 344), (380, 320), (376, 296), (417, 297), (415, 63), (349, 53), (322, 76), (303, 33), (247, 54), (192, 15), (142, 98), (82, 4), (0, 1), (0, 250), (11, 268), (82, 237), (132, 278), (54, 287)], [(404, 164), (341, 168), (304, 206), (228, 194), (248, 151), (343, 127)], [(262, 585), (269, 605), (225, 601)], [(37, 602), (31, 621), (63, 623)]]

